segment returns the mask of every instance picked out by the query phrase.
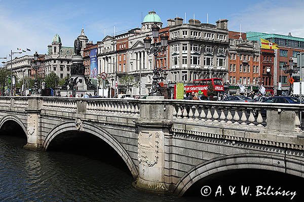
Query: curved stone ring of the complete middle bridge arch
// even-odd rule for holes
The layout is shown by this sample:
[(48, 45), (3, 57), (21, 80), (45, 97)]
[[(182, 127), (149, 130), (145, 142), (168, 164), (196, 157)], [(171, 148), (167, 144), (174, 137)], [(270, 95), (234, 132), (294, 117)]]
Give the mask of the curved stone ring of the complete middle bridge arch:
[[(135, 179), (138, 176), (136, 166), (135, 166), (134, 162), (132, 161), (130, 155), (127, 153), (126, 149), (115, 138), (112, 137), (111, 134), (109, 134), (106, 130), (104, 130), (98, 126), (95, 126), (91, 123), (88, 123), (88, 122), (83, 122), (82, 127), (83, 127), (82, 132), (91, 133), (91, 134), (101, 138), (103, 141), (105, 141), (107, 144), (109, 144), (113, 149), (115, 149), (116, 152), (120, 155), (120, 157), (124, 160), (124, 162), (128, 166), (133, 178)], [(44, 142), (42, 144), (42, 149), (47, 150), (52, 139), (54, 139), (60, 133), (67, 132), (67, 131), (78, 131), (75, 127), (74, 121), (64, 122), (64, 123), (58, 124), (56, 127), (54, 127), (49, 132), (46, 139), (44, 140)]]

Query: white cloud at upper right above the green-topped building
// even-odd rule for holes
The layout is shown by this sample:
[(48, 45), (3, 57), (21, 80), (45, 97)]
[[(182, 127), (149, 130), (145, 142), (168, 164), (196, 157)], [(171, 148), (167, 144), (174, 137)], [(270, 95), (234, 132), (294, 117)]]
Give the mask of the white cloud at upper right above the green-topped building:
[(243, 12), (233, 15), (229, 29), (233, 31), (256, 31), (304, 37), (304, 2), (302, 1), (265, 1), (250, 8), (243, 8)]

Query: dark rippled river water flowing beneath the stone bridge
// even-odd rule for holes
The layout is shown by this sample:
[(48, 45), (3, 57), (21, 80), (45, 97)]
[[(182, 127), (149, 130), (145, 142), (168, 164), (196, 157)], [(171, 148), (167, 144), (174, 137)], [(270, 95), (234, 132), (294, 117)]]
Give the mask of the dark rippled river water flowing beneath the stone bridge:
[[(265, 200), (262, 197), (242, 196), (227, 198), (229, 185), (280, 185), (282, 189), (294, 190), (296, 182), (302, 183), (303, 178), (273, 175), (259, 171), (228, 172), (206, 178), (204, 182), (194, 186), (194, 191), (183, 197), (159, 195), (144, 192), (132, 186), (133, 177), (119, 156), (96, 158), (94, 155), (83, 154), (79, 149), (65, 151), (32, 151), (23, 148), (26, 139), (0, 132), (0, 202), (9, 201), (303, 201), (299, 188), (296, 197), (272, 196)], [(24, 134), (23, 134), (24, 135)], [(25, 135), (24, 135), (25, 137)], [(65, 146), (66, 147), (66, 146)], [(96, 146), (95, 146), (96, 147)], [(104, 145), (102, 146), (104, 147)], [(100, 148), (98, 148), (100, 149)], [(108, 149), (108, 148), (106, 148)], [(86, 148), (88, 150), (88, 148)], [(104, 151), (103, 151), (104, 152)], [(98, 153), (96, 150), (94, 154)], [(100, 153), (101, 154), (101, 153)], [(249, 178), (248, 178), (249, 177)], [(221, 185), (221, 197), (203, 197), (201, 187), (210, 185), (213, 193)], [(251, 186), (250, 185), (250, 186)], [(248, 185), (249, 186), (249, 185)], [(283, 187), (285, 186), (285, 187)], [(299, 186), (301, 187), (301, 186)], [(224, 190), (226, 188), (226, 190)], [(190, 190), (189, 190), (190, 191)], [(186, 192), (187, 193), (187, 192)], [(193, 194), (192, 194), (193, 193)], [(254, 192), (252, 192), (254, 193)], [(283, 199), (283, 200), (282, 200)], [(301, 200), (298, 200), (301, 199)]]

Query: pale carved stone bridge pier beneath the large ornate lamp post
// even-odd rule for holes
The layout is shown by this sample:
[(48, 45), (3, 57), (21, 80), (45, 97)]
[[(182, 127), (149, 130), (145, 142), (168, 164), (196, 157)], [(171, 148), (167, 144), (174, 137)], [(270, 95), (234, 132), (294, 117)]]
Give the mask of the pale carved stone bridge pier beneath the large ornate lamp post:
[[(147, 96), (147, 99), (149, 96)], [(151, 96), (151, 103), (140, 106), (138, 126), (138, 178), (134, 186), (140, 189), (164, 192), (165, 185), (165, 135), (172, 123), (168, 119), (162, 96)]]

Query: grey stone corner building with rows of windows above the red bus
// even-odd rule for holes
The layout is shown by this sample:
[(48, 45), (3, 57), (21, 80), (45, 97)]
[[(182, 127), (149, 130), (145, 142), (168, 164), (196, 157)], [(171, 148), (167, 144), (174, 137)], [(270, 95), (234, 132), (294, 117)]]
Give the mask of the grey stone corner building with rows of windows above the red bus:
[(169, 19), (169, 81), (191, 83), (194, 79), (221, 78), (227, 81), (228, 20), (216, 25), (182, 18)]

